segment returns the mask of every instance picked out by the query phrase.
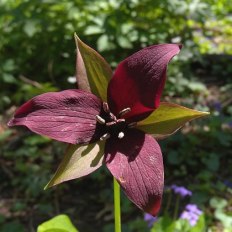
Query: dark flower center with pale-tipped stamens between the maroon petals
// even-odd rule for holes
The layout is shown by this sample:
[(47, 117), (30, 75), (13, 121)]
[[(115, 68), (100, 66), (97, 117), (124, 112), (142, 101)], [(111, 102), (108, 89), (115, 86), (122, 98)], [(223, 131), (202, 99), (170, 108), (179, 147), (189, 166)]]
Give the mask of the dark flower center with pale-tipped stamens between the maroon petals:
[(112, 136), (122, 139), (125, 135), (125, 131), (128, 128), (132, 128), (136, 125), (136, 123), (127, 123), (123, 115), (129, 113), (131, 111), (130, 108), (125, 108), (119, 112), (117, 116), (115, 116), (112, 112), (110, 112), (109, 106), (106, 102), (103, 102), (103, 110), (104, 115), (96, 115), (96, 121), (104, 126), (104, 133), (100, 140), (106, 140)]

